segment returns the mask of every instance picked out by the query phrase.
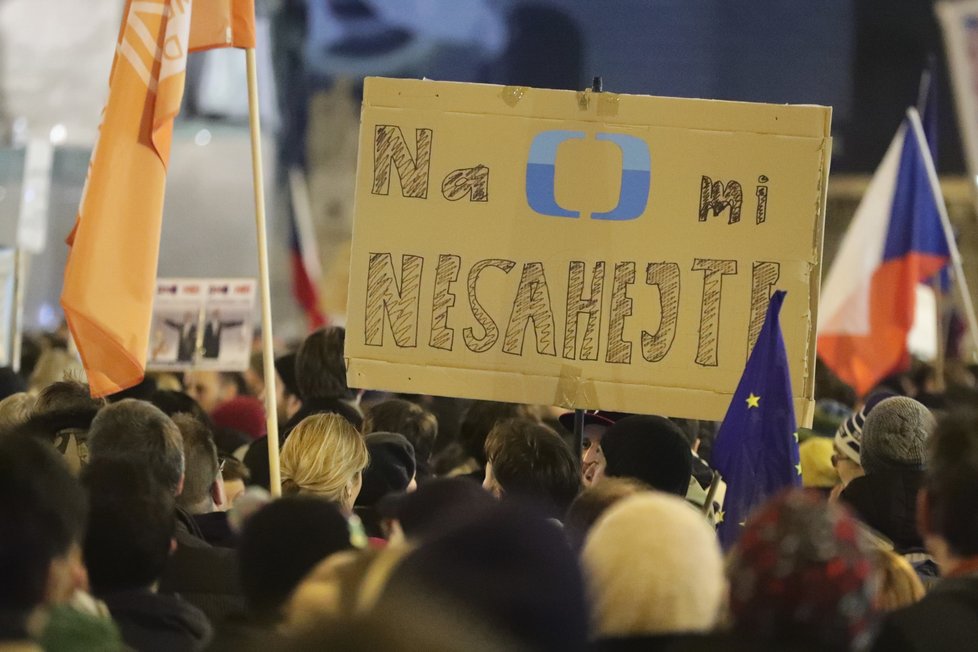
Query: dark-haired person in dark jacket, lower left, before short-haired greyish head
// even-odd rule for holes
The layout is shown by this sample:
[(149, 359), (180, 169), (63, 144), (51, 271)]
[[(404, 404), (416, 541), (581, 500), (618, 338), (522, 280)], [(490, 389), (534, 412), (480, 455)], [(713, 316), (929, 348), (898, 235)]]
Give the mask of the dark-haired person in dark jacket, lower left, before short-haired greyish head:
[(118, 459), (85, 469), (91, 509), (85, 564), (125, 643), (140, 652), (202, 650), (212, 630), (202, 611), (154, 590), (175, 529), (173, 495), (152, 474)]

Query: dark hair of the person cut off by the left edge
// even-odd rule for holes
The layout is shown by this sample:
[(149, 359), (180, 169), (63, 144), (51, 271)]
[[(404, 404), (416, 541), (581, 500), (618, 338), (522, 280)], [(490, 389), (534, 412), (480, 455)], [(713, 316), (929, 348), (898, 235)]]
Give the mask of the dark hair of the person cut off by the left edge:
[(51, 561), (81, 541), (85, 492), (50, 446), (0, 437), (0, 612), (41, 604)]

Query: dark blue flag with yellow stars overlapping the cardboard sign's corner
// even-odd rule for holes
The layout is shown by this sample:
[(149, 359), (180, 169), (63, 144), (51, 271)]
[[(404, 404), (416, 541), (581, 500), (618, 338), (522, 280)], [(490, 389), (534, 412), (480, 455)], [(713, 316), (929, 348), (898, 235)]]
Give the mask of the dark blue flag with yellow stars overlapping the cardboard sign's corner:
[(727, 483), (718, 534), (724, 549), (751, 510), (784, 487), (801, 485), (801, 459), (788, 355), (778, 315), (785, 292), (771, 297), (764, 326), (720, 425), (711, 457)]

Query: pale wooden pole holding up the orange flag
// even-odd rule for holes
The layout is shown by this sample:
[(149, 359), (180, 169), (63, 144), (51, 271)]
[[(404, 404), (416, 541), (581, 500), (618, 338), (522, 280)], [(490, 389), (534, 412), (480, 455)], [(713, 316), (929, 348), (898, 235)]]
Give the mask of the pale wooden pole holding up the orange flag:
[(251, 127), (251, 170), (255, 188), (255, 229), (258, 234), (258, 284), (261, 290), (261, 340), (265, 369), (265, 425), (268, 429), (269, 489), (282, 495), (278, 461), (278, 406), (275, 403), (275, 350), (272, 340), (272, 292), (268, 280), (268, 242), (265, 237), (265, 178), (261, 159), (261, 124), (258, 107), (258, 64), (255, 49), (245, 50), (248, 66), (248, 124)]

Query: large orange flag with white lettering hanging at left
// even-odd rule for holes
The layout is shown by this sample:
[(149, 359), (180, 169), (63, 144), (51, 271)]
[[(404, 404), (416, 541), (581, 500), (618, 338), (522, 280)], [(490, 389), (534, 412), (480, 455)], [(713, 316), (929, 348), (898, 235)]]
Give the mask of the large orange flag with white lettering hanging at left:
[(254, 47), (253, 0), (127, 0), (61, 306), (93, 396), (143, 379), (187, 53)]

